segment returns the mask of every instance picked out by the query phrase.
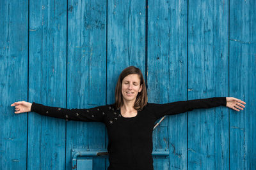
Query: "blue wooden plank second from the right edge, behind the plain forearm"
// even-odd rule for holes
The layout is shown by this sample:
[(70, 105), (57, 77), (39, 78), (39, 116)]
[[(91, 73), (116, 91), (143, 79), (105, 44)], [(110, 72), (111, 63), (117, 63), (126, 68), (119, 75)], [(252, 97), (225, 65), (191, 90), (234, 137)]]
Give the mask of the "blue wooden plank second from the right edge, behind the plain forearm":
[[(188, 99), (228, 94), (228, 1), (189, 1)], [(228, 169), (228, 110), (188, 113), (188, 169)]]

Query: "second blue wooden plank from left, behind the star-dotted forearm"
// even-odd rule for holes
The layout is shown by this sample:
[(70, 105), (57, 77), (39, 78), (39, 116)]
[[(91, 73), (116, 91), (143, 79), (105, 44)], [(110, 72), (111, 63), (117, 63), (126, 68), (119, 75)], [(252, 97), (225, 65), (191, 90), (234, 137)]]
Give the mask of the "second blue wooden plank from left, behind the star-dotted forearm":
[[(29, 100), (66, 107), (67, 2), (29, 1)], [(28, 169), (65, 169), (65, 120), (29, 114)]]

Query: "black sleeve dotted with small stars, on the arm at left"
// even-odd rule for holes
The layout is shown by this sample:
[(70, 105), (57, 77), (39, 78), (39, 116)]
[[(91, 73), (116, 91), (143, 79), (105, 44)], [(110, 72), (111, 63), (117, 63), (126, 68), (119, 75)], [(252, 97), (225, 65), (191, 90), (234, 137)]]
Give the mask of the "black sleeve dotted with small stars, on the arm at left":
[(47, 117), (63, 118), (65, 120), (76, 120), (83, 122), (104, 122), (104, 108), (106, 106), (97, 106), (90, 109), (66, 109), (45, 106), (33, 102), (31, 105), (31, 111), (39, 113)]

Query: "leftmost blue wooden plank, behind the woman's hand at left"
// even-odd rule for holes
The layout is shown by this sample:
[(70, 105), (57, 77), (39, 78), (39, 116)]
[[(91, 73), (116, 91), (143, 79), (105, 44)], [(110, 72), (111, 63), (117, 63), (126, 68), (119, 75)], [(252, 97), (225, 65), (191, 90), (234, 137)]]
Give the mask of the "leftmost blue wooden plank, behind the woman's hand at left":
[(15, 101), (28, 98), (28, 1), (0, 1), (0, 169), (26, 169), (27, 114)]

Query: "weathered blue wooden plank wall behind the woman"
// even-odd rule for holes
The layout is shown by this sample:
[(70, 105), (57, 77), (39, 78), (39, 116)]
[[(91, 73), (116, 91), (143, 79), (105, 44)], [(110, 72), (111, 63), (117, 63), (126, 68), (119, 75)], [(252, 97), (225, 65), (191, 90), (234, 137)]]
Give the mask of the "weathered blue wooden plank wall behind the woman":
[[(36, 113), (15, 101), (92, 108), (140, 67), (149, 103), (232, 96), (225, 107), (168, 116), (155, 169), (256, 169), (256, 1), (0, 1), (0, 169), (71, 169), (72, 148), (106, 148), (104, 124)], [(108, 167), (93, 160), (93, 169)]]

